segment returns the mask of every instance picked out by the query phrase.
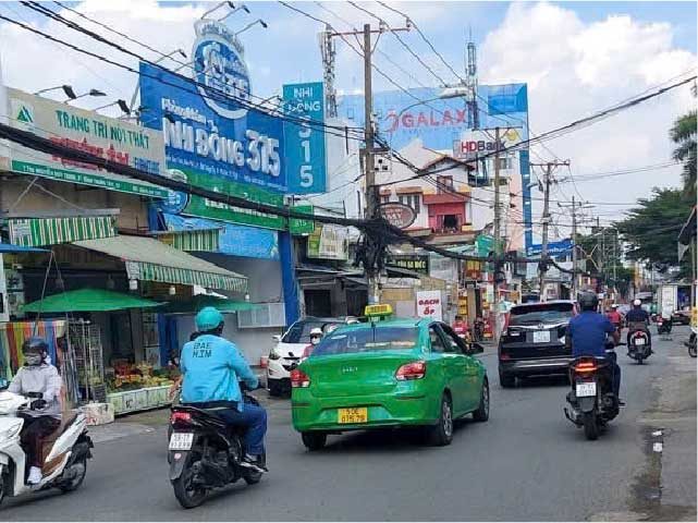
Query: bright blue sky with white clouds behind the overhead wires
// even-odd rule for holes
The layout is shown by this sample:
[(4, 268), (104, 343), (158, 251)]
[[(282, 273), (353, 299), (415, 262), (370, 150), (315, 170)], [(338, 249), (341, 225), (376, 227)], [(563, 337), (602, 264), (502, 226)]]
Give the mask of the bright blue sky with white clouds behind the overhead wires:
[[(347, 2), (292, 2), (294, 7), (347, 31), (370, 22), (367, 13)], [(478, 46), (481, 84), (526, 82), (529, 93), (529, 121), (532, 134), (541, 134), (621, 100), (666, 85), (671, 78), (696, 73), (696, 2), (387, 2), (407, 13), (428, 39), (460, 74), (463, 70), (465, 38), (469, 33)], [(60, 10), (54, 3), (45, 5)], [(193, 22), (215, 3), (155, 2), (151, 0), (87, 0), (68, 2), (114, 29), (147, 42), (158, 50), (182, 48), (187, 53), (194, 41)], [(256, 25), (241, 39), (256, 96), (281, 92), (284, 83), (319, 81), (322, 77), (318, 33), (323, 25), (291, 11), (278, 2), (247, 2), (249, 14), (238, 12), (226, 21), (231, 28), (262, 19), (268, 28)], [(360, 7), (388, 21), (392, 27), (404, 20), (378, 4)], [(221, 15), (226, 8), (221, 8)], [(89, 22), (63, 12), (81, 24)], [(71, 29), (48, 21), (16, 2), (0, 2), (0, 15), (32, 24), (52, 35), (122, 63), (136, 66), (137, 60), (97, 44)], [(159, 58), (105, 28), (90, 28), (108, 35), (149, 59)], [(448, 82), (455, 77), (414, 31), (402, 38)], [(423, 68), (392, 35), (378, 42), (376, 64), (400, 85), (436, 86), (439, 81)], [(98, 88), (108, 100), (128, 100), (136, 85), (135, 75), (66, 50), (60, 45), (0, 21), (0, 57), (4, 83), (35, 92), (71, 84), (77, 92)], [(391, 63), (392, 62), (392, 63)], [(167, 62), (166, 62), (167, 63)], [(397, 64), (397, 65), (395, 65)], [(169, 66), (176, 66), (169, 62)], [(402, 71), (401, 71), (402, 69)], [(404, 71), (409, 72), (409, 76)], [(336, 88), (354, 93), (363, 87), (363, 64), (341, 40), (338, 41)], [(375, 90), (392, 89), (375, 75)], [(103, 99), (79, 100), (94, 108)], [(653, 186), (678, 186), (681, 168), (649, 170), (626, 175), (584, 180), (588, 174), (628, 168), (657, 166), (671, 160), (668, 132), (672, 122), (696, 107), (689, 87), (654, 98), (595, 125), (546, 142), (532, 150), (539, 159), (570, 159), (571, 168), (555, 174), (559, 183), (553, 198), (577, 198), (596, 204), (595, 216), (610, 222)], [(114, 113), (115, 115), (115, 113)], [(534, 171), (534, 174), (539, 172)], [(575, 183), (573, 183), (573, 180)], [(534, 197), (540, 193), (534, 191)], [(570, 234), (568, 212), (555, 208), (560, 227), (553, 236)], [(535, 202), (534, 219), (540, 203)], [(536, 231), (538, 232), (538, 231)]]

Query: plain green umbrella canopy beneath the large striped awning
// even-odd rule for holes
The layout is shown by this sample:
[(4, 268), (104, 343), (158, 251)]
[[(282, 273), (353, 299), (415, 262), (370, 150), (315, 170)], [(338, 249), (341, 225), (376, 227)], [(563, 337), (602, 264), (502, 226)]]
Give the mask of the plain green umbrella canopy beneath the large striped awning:
[(158, 302), (103, 289), (79, 289), (46, 296), (22, 307), (24, 313), (98, 313), (125, 308), (149, 308)]

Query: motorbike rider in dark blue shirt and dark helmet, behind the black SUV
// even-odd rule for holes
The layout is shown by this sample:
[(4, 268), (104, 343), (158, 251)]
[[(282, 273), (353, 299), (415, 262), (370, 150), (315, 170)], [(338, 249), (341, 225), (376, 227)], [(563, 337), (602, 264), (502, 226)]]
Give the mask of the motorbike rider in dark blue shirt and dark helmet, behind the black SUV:
[(578, 297), (581, 313), (570, 320), (565, 344), (572, 345), (573, 357), (595, 356), (609, 358), (613, 373), (613, 393), (619, 403), (624, 404), (620, 399), (621, 391), (621, 367), (616, 363), (614, 352), (607, 354), (607, 335), (612, 335), (614, 344), (621, 340), (621, 333), (609, 321), (609, 318), (598, 313), (599, 299), (593, 292), (583, 292)]

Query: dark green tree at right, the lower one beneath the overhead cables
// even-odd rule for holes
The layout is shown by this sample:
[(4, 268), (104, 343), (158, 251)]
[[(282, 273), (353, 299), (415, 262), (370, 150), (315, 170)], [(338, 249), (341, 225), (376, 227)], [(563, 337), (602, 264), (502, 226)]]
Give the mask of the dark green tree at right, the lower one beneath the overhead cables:
[(678, 266), (676, 236), (694, 200), (695, 196), (685, 191), (657, 187), (651, 197), (639, 198), (638, 206), (627, 211), (628, 217), (615, 223), (626, 242), (626, 257), (663, 267)]

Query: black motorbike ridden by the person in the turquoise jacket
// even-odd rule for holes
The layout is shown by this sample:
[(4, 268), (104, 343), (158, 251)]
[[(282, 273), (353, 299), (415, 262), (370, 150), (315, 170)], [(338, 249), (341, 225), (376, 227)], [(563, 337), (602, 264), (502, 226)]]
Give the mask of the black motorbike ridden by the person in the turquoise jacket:
[[(243, 401), (258, 405), (243, 389)], [(244, 479), (254, 485), (262, 472), (240, 463), (244, 454), (245, 427), (231, 427), (216, 414), (217, 409), (191, 404), (172, 408), (169, 445), (170, 483), (174, 497), (185, 509), (201, 504), (208, 494)], [(261, 458), (266, 466), (266, 454)]]

